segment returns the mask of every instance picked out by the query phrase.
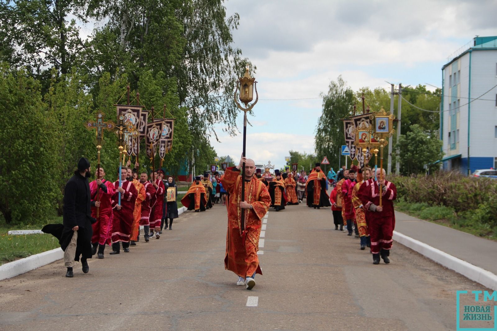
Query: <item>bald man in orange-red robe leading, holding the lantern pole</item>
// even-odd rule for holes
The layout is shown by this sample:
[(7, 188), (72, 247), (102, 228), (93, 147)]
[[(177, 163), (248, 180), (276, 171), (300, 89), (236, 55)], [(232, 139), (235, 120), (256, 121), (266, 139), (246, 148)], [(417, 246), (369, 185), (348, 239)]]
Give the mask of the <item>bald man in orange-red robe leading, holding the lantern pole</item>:
[[(242, 164), (245, 163), (245, 178), (242, 178)], [(228, 233), (224, 265), (238, 275), (237, 285), (255, 286), (255, 273), (262, 274), (257, 257), (262, 218), (271, 204), (267, 186), (255, 176), (253, 160), (242, 157), (238, 167), (229, 167), (221, 178), (223, 187), (230, 194), (228, 203)], [(242, 183), (245, 185), (245, 199), (242, 202)], [(245, 213), (245, 227), (242, 228), (241, 213)]]

